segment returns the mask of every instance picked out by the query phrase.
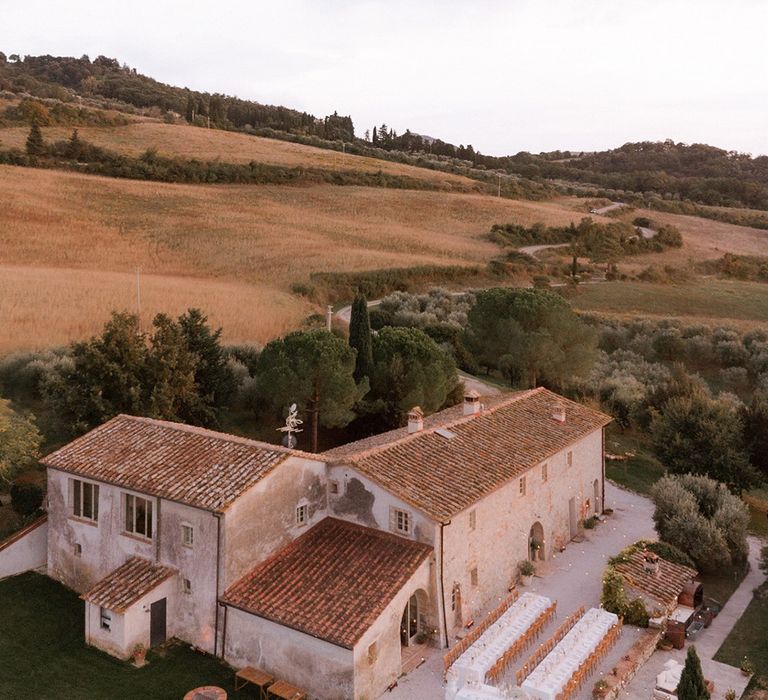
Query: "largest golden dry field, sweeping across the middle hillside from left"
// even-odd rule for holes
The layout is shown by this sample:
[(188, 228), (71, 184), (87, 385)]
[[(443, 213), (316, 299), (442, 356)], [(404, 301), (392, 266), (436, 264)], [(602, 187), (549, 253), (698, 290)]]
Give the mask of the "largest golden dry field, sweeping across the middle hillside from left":
[(0, 167), (0, 351), (200, 306), (231, 342), (264, 341), (313, 309), (311, 272), (484, 263), (491, 224), (573, 218), (573, 201), (358, 187), (167, 185)]

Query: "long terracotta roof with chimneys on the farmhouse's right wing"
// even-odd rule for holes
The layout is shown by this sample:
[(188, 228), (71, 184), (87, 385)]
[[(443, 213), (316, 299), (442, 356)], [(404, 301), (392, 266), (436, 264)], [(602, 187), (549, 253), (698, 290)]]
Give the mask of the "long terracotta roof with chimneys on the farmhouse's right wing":
[[(565, 422), (552, 418), (557, 406)], [(424, 429), (361, 440), (324, 453), (443, 522), (510, 479), (611, 422), (604, 413), (547, 389), (488, 403), (480, 414), (458, 407), (431, 417)], [(453, 437), (440, 434), (447, 429)], [(441, 431), (443, 432), (443, 431)], [(357, 449), (354, 449), (357, 448)]]

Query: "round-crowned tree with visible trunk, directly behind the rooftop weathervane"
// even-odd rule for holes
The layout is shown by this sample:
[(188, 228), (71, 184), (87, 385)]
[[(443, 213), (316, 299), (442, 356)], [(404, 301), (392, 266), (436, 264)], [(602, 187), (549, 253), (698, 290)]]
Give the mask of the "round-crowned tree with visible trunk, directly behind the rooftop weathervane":
[(318, 426), (340, 428), (355, 417), (353, 406), (367, 393), (368, 380), (355, 382), (356, 352), (327, 330), (295, 331), (264, 347), (256, 367), (262, 405), (283, 413), (292, 403), (311, 419), (311, 449)]

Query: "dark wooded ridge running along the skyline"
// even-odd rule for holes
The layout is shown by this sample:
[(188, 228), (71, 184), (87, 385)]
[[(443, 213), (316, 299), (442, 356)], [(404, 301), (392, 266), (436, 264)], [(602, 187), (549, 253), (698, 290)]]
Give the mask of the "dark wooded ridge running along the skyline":
[[(289, 107), (166, 85), (104, 56), (91, 61), (87, 56), (20, 58), (6, 57), (0, 52), (0, 91), (3, 90), (7, 91), (6, 97), (11, 93), (32, 95), (68, 105), (86, 104), (127, 114), (182, 120), (196, 126), (256, 132), (289, 141), (302, 139), (323, 148), (338, 149), (340, 142), (344, 142), (347, 150), (384, 162), (399, 160), (460, 172), (488, 183), (495, 181), (493, 173), (488, 172), (491, 170), (526, 181), (556, 182), (561, 189), (570, 188), (583, 195), (621, 197), (640, 204), (655, 198), (663, 200), (666, 206), (690, 202), (768, 209), (768, 156), (753, 158), (706, 144), (667, 140), (627, 143), (597, 153), (519, 152), (491, 156), (471, 145), (456, 146), (439, 138), (423, 138), (408, 129), (398, 134), (384, 124), (372, 131), (365, 129), (364, 139), (360, 138), (363, 129), (355, 133), (351, 117), (336, 112), (320, 118)], [(0, 124), (2, 121), (0, 116)], [(5, 121), (8, 125), (7, 117)], [(146, 142), (142, 130), (127, 131), (125, 143), (118, 148), (121, 152)], [(7, 138), (8, 143), (19, 143), (18, 135)], [(94, 139), (100, 142), (98, 136)], [(520, 196), (520, 192), (513, 195)]]

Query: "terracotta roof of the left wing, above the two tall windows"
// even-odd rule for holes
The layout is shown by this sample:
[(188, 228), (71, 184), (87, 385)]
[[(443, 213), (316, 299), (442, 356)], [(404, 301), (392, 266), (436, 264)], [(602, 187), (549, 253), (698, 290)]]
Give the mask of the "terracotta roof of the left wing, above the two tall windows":
[(44, 457), (47, 467), (222, 511), (289, 455), (279, 445), (120, 415)]

